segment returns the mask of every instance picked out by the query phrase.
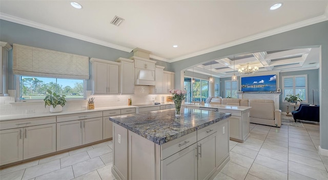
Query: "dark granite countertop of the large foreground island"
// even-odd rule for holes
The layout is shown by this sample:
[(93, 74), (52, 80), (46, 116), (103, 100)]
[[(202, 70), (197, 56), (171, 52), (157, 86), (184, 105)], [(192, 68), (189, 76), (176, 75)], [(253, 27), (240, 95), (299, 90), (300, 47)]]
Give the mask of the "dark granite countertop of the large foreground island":
[(181, 108), (181, 118), (175, 118), (174, 110), (113, 116), (109, 120), (161, 145), (231, 116), (211, 110)]

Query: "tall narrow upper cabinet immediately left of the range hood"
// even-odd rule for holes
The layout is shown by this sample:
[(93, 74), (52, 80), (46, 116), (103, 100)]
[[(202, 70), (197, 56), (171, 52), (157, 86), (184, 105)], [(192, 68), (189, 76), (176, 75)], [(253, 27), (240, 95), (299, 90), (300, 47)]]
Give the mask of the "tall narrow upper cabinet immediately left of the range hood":
[(118, 58), (116, 62), (121, 63), (120, 68), (120, 93), (134, 93), (134, 61), (126, 58)]

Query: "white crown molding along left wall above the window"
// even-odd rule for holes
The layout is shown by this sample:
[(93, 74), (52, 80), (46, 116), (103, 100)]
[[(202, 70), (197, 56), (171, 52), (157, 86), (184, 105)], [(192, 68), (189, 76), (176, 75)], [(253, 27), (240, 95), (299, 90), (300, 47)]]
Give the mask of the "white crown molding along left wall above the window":
[(38, 22), (34, 22), (34, 21), (31, 21), (31, 20), (27, 20), (27, 19), (24, 19), (24, 18), (12, 16), (12, 15), (1, 13), (1, 12), (0, 12), (0, 19), (4, 19), (4, 20), (11, 21), (11, 22), (15, 22), (15, 23), (20, 24), (20, 25), (25, 25), (25, 26), (29, 26), (29, 27), (32, 27), (32, 28), (45, 30), (45, 31), (49, 31), (49, 32), (52, 32), (52, 33), (72, 37), (72, 38), (75, 38), (75, 39), (80, 39), (80, 40), (84, 40), (84, 41), (87, 41), (87, 42), (92, 42), (92, 43), (95, 43), (95, 44), (99, 44), (101, 46), (105, 46), (105, 47), (109, 47), (109, 48), (129, 52), (129, 53), (132, 51), (132, 49), (130, 49), (130, 48), (118, 46), (116, 44), (112, 44), (112, 43), (109, 43), (109, 42), (106, 42), (106, 41), (103, 41), (103, 40), (91, 38), (91, 37), (88, 37), (88, 36), (80, 35), (80, 34), (77, 34), (77, 33), (73, 33), (73, 32), (58, 29), (58, 28), (54, 28), (52, 26), (47, 26), (47, 25), (44, 25), (44, 24), (40, 24)]

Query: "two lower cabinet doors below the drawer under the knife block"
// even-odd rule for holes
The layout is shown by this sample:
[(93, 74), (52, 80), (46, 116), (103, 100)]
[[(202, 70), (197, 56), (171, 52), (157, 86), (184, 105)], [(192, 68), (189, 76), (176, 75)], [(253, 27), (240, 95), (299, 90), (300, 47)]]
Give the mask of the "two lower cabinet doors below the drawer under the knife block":
[(103, 117), (57, 123), (57, 151), (103, 140)]

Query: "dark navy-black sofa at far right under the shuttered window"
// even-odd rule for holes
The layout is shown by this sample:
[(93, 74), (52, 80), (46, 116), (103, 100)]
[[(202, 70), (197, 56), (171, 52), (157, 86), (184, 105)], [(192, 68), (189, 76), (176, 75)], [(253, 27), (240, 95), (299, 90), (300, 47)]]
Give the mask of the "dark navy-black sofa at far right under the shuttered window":
[(319, 122), (319, 105), (300, 104), (297, 110), (292, 111), (292, 115), (295, 122), (296, 120)]

